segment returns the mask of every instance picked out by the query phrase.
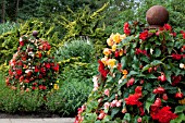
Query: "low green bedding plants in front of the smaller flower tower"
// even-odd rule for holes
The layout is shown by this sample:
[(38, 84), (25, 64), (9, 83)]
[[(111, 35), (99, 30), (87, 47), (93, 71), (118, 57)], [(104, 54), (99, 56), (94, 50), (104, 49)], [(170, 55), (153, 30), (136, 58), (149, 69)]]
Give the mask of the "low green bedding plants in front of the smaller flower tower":
[(39, 111), (44, 103), (42, 95), (39, 91), (21, 91), (10, 89), (0, 83), (0, 111), (14, 112), (34, 112)]

